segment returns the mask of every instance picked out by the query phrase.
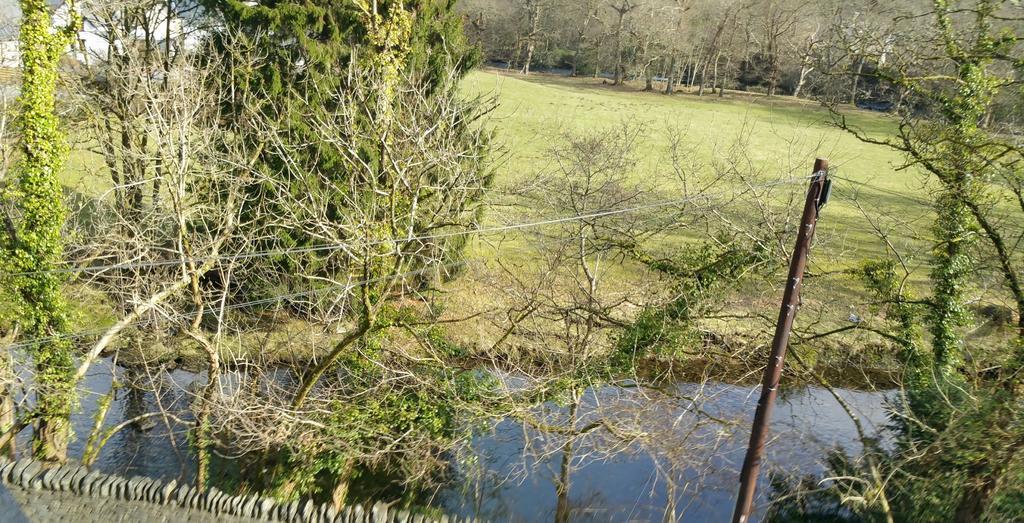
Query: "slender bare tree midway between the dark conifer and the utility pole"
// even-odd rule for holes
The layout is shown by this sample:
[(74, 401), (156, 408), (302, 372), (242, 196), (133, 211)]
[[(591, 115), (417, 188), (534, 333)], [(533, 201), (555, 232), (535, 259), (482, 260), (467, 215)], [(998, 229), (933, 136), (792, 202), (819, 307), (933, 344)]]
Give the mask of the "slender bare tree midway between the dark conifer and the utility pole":
[[(637, 129), (630, 127), (566, 135), (564, 145), (552, 150), (558, 166), (555, 171), (518, 192), (530, 202), (530, 208), (543, 208), (554, 215), (586, 216), (641, 205), (650, 191), (631, 180), (637, 137)], [(543, 435), (543, 443), (527, 450), (540, 455), (560, 452), (558, 473), (553, 478), (555, 521), (571, 518), (569, 489), (574, 464), (583, 455), (613, 453), (636, 439), (633, 428), (593, 407), (588, 398), (594, 392), (588, 389), (599, 386), (599, 368), (613, 357), (611, 333), (631, 321), (628, 305), (644, 302), (653, 293), (645, 285), (620, 286), (610, 277), (622, 262), (623, 246), (664, 228), (664, 221), (649, 218), (626, 212), (534, 231), (530, 242), (542, 246), (541, 266), (524, 273), (523, 267), (502, 264), (502, 287), (511, 285), (516, 291), (508, 313), (499, 316), (504, 319), (496, 318), (504, 333), (497, 343), (511, 343), (510, 335), (523, 340), (518, 344), (528, 340), (522, 359), (530, 361), (514, 364), (509, 371), (528, 376), (529, 390), (547, 390), (565, 404), (564, 411), (556, 413), (526, 400), (514, 413), (524, 431)], [(602, 432), (612, 434), (614, 442), (597, 444)]]

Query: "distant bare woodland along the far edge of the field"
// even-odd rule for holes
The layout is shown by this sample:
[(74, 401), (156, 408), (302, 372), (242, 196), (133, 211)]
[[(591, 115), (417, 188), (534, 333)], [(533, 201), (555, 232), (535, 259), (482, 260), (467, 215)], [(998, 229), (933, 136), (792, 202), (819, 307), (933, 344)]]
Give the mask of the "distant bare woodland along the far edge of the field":
[[(932, 2), (876, 0), (464, 0), (470, 41), (485, 60), (538, 71), (692, 88), (813, 97), (887, 110), (900, 93), (870, 73), (885, 67), (900, 27)], [(902, 20), (900, 25), (890, 24)], [(915, 21), (916, 20), (916, 21)]]

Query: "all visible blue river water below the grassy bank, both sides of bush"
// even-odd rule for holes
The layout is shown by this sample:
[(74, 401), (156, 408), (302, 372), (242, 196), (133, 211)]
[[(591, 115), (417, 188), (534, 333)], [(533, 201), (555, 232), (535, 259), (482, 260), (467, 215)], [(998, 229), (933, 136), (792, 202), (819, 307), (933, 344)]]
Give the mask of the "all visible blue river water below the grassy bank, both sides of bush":
[[(190, 481), (195, 476), (195, 461), (187, 449), (183, 423), (189, 420), (189, 391), (195, 390), (197, 380), (202, 383), (203, 377), (185, 371), (172, 371), (160, 377), (131, 377), (110, 360), (97, 362), (83, 384), (81, 405), (73, 419), (76, 438), (71, 454), (82, 455), (100, 397), (110, 390), (112, 373), (117, 373), (122, 382), (155, 379), (159, 383), (159, 393), (132, 391), (129, 387), (118, 390), (104, 421), (105, 427), (114, 427), (159, 406), (171, 416), (154, 418), (141, 427), (118, 432), (99, 454), (96, 466), (103, 472)], [(695, 395), (696, 389), (692, 384), (678, 386), (678, 392), (686, 397)], [(754, 387), (706, 384), (700, 393), (706, 398), (701, 407), (715, 418), (734, 420), (740, 428), (746, 427), (753, 418), (757, 402)], [(885, 424), (886, 393), (851, 390), (840, 393), (867, 430), (874, 432)], [(601, 391), (591, 394), (581, 408), (593, 408), (601, 402), (607, 412), (608, 399), (623, 397), (622, 390)], [(636, 403), (635, 399), (629, 401)], [(634, 416), (649, 420), (652, 427), (676, 424), (672, 426), (675, 429), (681, 420), (686, 420), (682, 412), (690, 406), (683, 403), (675, 407), (660, 406), (634, 412)], [(821, 460), (828, 449), (840, 446), (851, 452), (860, 450), (853, 423), (823, 389), (805, 387), (787, 391), (773, 416), (773, 439), (768, 446), (764, 474), (772, 470), (820, 474), (823, 472)], [(20, 435), (23, 445), (27, 444), (28, 437), (28, 431)], [(742, 429), (726, 430), (718, 424), (707, 424), (690, 437), (701, 444), (697, 445), (697, 451), (691, 452), (687, 466), (678, 470), (679, 486), (673, 495), (677, 514), (683, 521), (726, 520), (732, 511), (736, 470), (742, 462), (746, 433)], [(535, 449), (536, 439), (539, 439), (537, 434), (508, 420), (476, 436), (470, 446), (473, 453), (480, 456), (482, 467), (456, 465), (455, 479), (440, 490), (435, 505), (449, 513), (475, 515), (492, 521), (554, 520), (555, 478), (561, 452), (557, 448), (550, 452), (524, 452), (524, 449)], [(573, 521), (663, 519), (671, 488), (656, 474), (655, 463), (648, 452), (633, 448), (602, 455), (590, 450), (593, 449), (582, 445), (573, 452), (568, 493)], [(478, 474), (481, 470), (486, 471), (485, 474)], [(764, 477), (762, 481), (761, 486), (767, 487)], [(766, 488), (760, 489), (761, 513), (765, 491)]]

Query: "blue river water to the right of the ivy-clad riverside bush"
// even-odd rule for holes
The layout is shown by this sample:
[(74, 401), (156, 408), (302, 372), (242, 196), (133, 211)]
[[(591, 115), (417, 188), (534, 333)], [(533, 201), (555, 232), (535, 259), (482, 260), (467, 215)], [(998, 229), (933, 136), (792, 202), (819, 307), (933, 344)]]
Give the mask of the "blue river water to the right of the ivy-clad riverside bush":
[[(683, 384), (684, 394), (695, 389)], [(757, 404), (753, 387), (731, 385), (706, 385), (707, 402), (703, 408), (720, 419), (735, 420), (748, 427)], [(711, 390), (707, 390), (711, 389)], [(886, 423), (885, 393), (839, 391), (860, 418), (865, 430), (874, 433)], [(685, 408), (688, 405), (683, 405)], [(651, 411), (652, 424), (675, 420), (677, 412)], [(762, 474), (764, 488), (759, 490), (759, 511), (764, 512), (770, 471), (795, 474), (820, 474), (824, 472), (821, 460), (827, 450), (842, 447), (859, 452), (853, 422), (826, 390), (805, 387), (790, 391), (774, 411), (771, 433)], [(685, 428), (680, 428), (684, 430)], [(708, 426), (705, 431), (718, 432), (722, 427)], [(708, 436), (708, 434), (705, 434)], [(716, 445), (695, 445), (706, 448), (691, 455), (692, 466), (677, 478), (676, 514), (682, 521), (727, 521), (732, 514), (749, 432), (737, 430)], [(529, 436), (522, 426), (510, 421), (500, 423), (494, 435), (477, 438), (475, 449), (487, 460), (492, 473), (486, 479), (473, 482), (468, 489), (450, 488), (441, 495), (441, 505), (452, 513), (476, 514), (493, 521), (554, 521), (556, 509), (555, 478), (561, 453), (546, 454), (544, 460), (527, 457), (523, 448), (529, 447)], [(707, 443), (708, 438), (697, 438)], [(581, 452), (580, 449), (574, 452)], [(530, 454), (530, 452), (526, 452)], [(574, 462), (571, 475), (569, 506), (572, 521), (662, 521), (668, 506), (670, 487), (657, 477), (655, 464), (644, 452), (622, 452), (608, 459), (583, 459)], [(525, 466), (529, 474), (517, 471)]]

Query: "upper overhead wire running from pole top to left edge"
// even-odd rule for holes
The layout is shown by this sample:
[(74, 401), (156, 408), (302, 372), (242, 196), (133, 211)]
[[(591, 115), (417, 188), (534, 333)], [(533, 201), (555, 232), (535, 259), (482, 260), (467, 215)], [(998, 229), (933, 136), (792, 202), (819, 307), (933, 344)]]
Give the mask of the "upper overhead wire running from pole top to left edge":
[[(785, 178), (782, 180), (776, 180), (774, 182), (765, 183), (762, 185), (749, 185), (748, 189), (757, 188), (770, 188), (779, 185), (793, 184), (799, 181), (805, 181), (810, 179), (809, 177), (796, 177), (796, 178)], [(655, 202), (651, 204), (639, 205), (626, 209), (611, 209), (604, 211), (597, 211), (588, 214), (581, 214), (574, 216), (566, 216), (561, 218), (550, 218), (545, 220), (539, 220), (534, 222), (515, 223), (511, 225), (500, 225), (493, 227), (483, 227), (478, 229), (465, 229), (450, 232), (438, 232), (435, 234), (427, 234), (422, 236), (408, 236), (404, 238), (393, 238), (393, 239), (379, 239), (365, 244), (367, 247), (376, 247), (385, 244), (409, 244), (413, 242), (424, 242), (433, 239), (444, 239), (450, 237), (458, 237), (467, 234), (493, 234), (497, 232), (504, 232), (509, 230), (518, 230), (531, 227), (541, 227), (546, 225), (556, 225), (559, 223), (567, 223), (577, 220), (586, 220), (592, 218), (603, 218), (607, 216), (615, 216), (620, 214), (627, 214), (637, 211), (646, 211), (651, 209), (658, 209), (663, 207), (670, 207), (674, 205), (682, 205), (690, 202), (695, 202), (698, 200), (712, 200), (719, 199), (726, 195), (725, 192), (719, 192), (717, 194), (695, 194), (678, 200), (668, 200), (662, 202)], [(330, 252), (338, 251), (351, 247), (351, 244), (331, 244), (325, 246), (311, 246), (311, 247), (297, 247), (289, 249), (273, 249), (266, 251), (256, 251), (252, 253), (238, 253), (232, 255), (219, 255), (219, 256), (203, 256), (203, 257), (193, 257), (193, 258), (174, 258), (159, 261), (150, 262), (135, 262), (135, 263), (117, 263), (110, 265), (92, 265), (88, 267), (78, 267), (78, 268), (66, 268), (66, 269), (48, 269), (48, 270), (37, 270), (37, 271), (24, 271), (24, 272), (13, 272), (9, 274), (10, 276), (30, 276), (39, 274), (78, 274), (84, 272), (103, 272), (106, 270), (122, 270), (122, 269), (139, 269), (139, 268), (155, 268), (155, 267), (165, 267), (179, 265), (181, 263), (205, 263), (207, 261), (244, 261), (255, 258), (262, 258), (267, 256), (283, 256), (287, 254), (307, 254), (307, 253), (317, 253), (317, 252)]]

